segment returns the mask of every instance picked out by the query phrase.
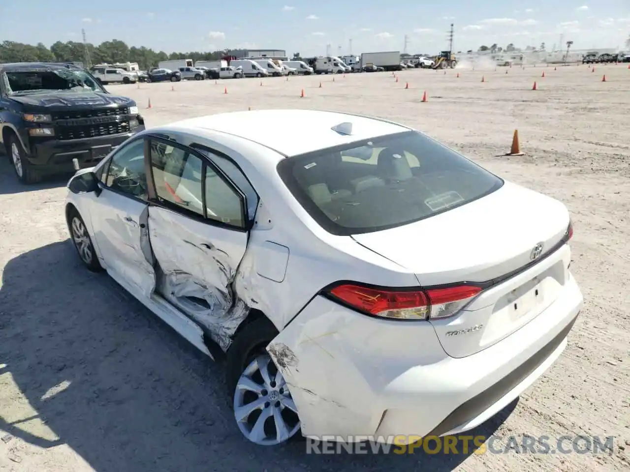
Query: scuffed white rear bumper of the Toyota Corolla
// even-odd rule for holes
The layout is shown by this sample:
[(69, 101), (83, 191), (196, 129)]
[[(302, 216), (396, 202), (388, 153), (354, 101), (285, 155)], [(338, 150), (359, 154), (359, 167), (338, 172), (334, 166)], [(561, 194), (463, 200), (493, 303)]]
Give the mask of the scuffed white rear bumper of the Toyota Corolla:
[(571, 278), (517, 332), (456, 359), (430, 323), (366, 317), (318, 296), (267, 349), (287, 379), (304, 435), (398, 436), (403, 444), (472, 429), (505, 408), (558, 359), (581, 305)]

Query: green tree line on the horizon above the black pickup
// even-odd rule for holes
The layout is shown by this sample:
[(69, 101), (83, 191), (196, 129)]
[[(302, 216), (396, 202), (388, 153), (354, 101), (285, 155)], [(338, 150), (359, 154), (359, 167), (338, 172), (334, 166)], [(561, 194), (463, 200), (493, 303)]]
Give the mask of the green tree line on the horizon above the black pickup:
[[(217, 60), (226, 55), (243, 57), (244, 49), (226, 49), (214, 52), (172, 52), (155, 51), (151, 48), (129, 47), (120, 40), (111, 40), (95, 46), (91, 43), (75, 41), (57, 41), (50, 48), (43, 43), (33, 46), (14, 41), (0, 43), (0, 64), (8, 62), (83, 62), (85, 67), (95, 64), (114, 64), (115, 62), (137, 62), (140, 69), (156, 66), (161, 60), (192, 59)], [(89, 58), (89, 59), (88, 59)]]

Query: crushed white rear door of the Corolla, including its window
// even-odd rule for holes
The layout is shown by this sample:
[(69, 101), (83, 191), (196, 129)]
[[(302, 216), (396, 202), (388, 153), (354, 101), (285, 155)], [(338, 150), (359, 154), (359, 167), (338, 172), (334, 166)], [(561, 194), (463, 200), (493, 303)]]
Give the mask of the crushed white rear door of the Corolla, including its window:
[(247, 198), (198, 150), (158, 137), (150, 148), (156, 291), (226, 350), (248, 313), (232, 291), (247, 249)]

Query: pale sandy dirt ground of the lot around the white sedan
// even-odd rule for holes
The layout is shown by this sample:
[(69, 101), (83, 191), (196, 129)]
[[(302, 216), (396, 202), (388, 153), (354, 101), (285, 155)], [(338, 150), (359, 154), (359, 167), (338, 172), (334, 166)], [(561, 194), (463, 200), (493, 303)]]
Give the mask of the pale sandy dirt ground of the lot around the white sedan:
[[(249, 444), (234, 424), (222, 365), (198, 354), (107, 276), (81, 267), (64, 222), (66, 179), (25, 188), (0, 159), (0, 470), (629, 469), (630, 70), (621, 64), (597, 65), (595, 72), (585, 65), (406, 70), (398, 77), (109, 88), (136, 99), (148, 126), (248, 107), (382, 116), (561, 199), (575, 225), (571, 268), (583, 311), (553, 368), (471, 434), (495, 434), (503, 438), (497, 444), (508, 435), (547, 435), (552, 442), (614, 435), (612, 454), (314, 456), (299, 443)], [(498, 157), (510, 149), (515, 129), (526, 155)]]

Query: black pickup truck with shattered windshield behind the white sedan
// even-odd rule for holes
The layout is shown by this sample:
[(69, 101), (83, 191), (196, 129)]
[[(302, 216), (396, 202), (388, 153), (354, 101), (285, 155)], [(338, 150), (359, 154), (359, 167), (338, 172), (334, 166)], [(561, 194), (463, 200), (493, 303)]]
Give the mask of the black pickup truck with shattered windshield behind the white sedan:
[(130, 98), (112, 95), (72, 64), (0, 64), (0, 143), (30, 184), (98, 161), (144, 130)]

